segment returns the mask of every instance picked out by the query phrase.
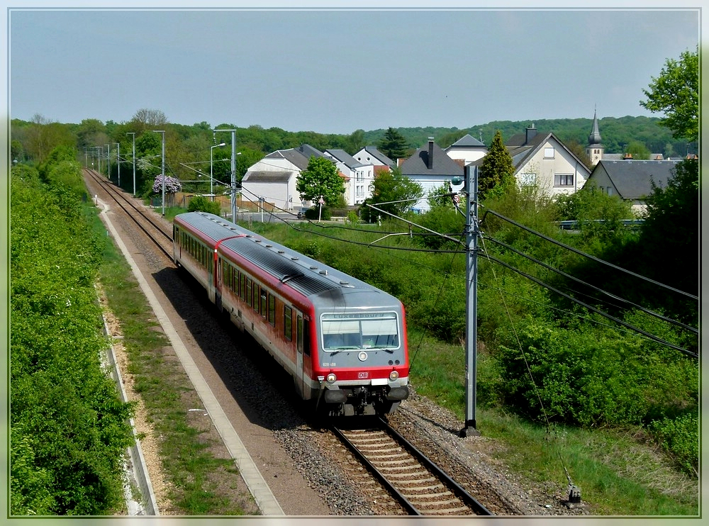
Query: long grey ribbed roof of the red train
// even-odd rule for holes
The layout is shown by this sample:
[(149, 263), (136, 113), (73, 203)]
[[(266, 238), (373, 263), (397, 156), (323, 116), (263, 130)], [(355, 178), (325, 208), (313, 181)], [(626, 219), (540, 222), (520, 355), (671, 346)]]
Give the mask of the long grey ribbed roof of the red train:
[[(274, 276), (281, 283), (288, 284), (304, 296), (321, 296), (329, 298), (329, 301), (334, 303), (341, 303), (342, 296), (350, 296), (350, 293), (355, 292), (360, 294), (370, 292), (378, 295), (378, 306), (399, 303), (398, 299), (389, 293), (284, 245), (267, 240), (219, 216), (189, 212), (180, 214), (177, 218), (217, 242), (223, 240), (219, 244), (220, 248), (245, 257), (264, 272)], [(346, 303), (351, 305), (353, 300), (354, 298), (350, 298)], [(364, 298), (362, 300), (367, 301)], [(371, 303), (371, 298), (369, 302)]]

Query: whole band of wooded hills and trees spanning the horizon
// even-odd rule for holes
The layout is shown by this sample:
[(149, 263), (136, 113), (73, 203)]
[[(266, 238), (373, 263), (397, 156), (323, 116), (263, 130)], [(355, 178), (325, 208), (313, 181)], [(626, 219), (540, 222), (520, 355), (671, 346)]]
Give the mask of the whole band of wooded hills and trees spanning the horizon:
[[(675, 140), (667, 128), (659, 125), (657, 117), (603, 117), (598, 121), (601, 132), (601, 142), (606, 153), (623, 153), (626, 145), (640, 143), (647, 148), (649, 153), (661, 153), (665, 157), (684, 157), (687, 153), (696, 153), (696, 143), (687, 145), (686, 142)], [(452, 145), (463, 135), (469, 133), (472, 137), (482, 140), (490, 145), (497, 130), (500, 130), (503, 140), (508, 140), (517, 133), (524, 133), (527, 126), (534, 124), (539, 133), (552, 132), (572, 151), (576, 143), (581, 150), (588, 145), (588, 135), (591, 133), (593, 120), (591, 118), (575, 119), (537, 119), (536, 121), (493, 121), (491, 123), (474, 125), (470, 128), (395, 128), (408, 143), (408, 155), (425, 145), (428, 138), (434, 138), (437, 145), (446, 148)], [(281, 128), (262, 128), (260, 125), (250, 125), (240, 128), (233, 123), (220, 123), (211, 126), (209, 123), (196, 123), (184, 125), (178, 123), (164, 123), (160, 127), (167, 130), (167, 135), (178, 138), (184, 145), (184, 150), (190, 150), (189, 155), (198, 158), (208, 152), (206, 145), (213, 141), (213, 128), (236, 130), (236, 142), (240, 152), (252, 155), (243, 155), (239, 170), (245, 172), (249, 162), (259, 155), (267, 155), (275, 150), (298, 147), (303, 144), (311, 145), (320, 151), (328, 149), (342, 149), (354, 155), (366, 145), (379, 146), (386, 130), (354, 130), (350, 134), (325, 134), (315, 131), (291, 132)], [(154, 125), (140, 121), (138, 117), (125, 123), (108, 121), (105, 124), (96, 119), (85, 119), (80, 124), (60, 124), (48, 121), (11, 121), (11, 155), (13, 159), (43, 161), (44, 156), (59, 144), (76, 145), (79, 152), (91, 151), (96, 145), (106, 145), (108, 142), (121, 142), (121, 151), (125, 152), (132, 147), (130, 133), (135, 135), (136, 155), (145, 156), (152, 152), (140, 140), (143, 133), (155, 129)], [(41, 133), (40, 133), (41, 132)], [(150, 133), (148, 134), (150, 135)], [(40, 140), (41, 139), (41, 140)], [(150, 152), (147, 152), (150, 150)], [(194, 151), (192, 151), (194, 150)], [(147, 153), (146, 153), (147, 152)], [(170, 147), (168, 155), (175, 155), (175, 150)], [(153, 152), (154, 153), (154, 152)], [(178, 152), (179, 153), (179, 152)]]

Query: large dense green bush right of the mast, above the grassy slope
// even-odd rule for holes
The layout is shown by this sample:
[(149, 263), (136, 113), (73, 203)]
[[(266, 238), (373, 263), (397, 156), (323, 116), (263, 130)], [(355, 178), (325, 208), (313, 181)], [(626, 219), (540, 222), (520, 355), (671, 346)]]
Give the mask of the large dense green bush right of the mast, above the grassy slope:
[(692, 403), (692, 362), (647, 340), (531, 318), (499, 332), (506, 403), (533, 420), (639, 425), (671, 414), (679, 401)]

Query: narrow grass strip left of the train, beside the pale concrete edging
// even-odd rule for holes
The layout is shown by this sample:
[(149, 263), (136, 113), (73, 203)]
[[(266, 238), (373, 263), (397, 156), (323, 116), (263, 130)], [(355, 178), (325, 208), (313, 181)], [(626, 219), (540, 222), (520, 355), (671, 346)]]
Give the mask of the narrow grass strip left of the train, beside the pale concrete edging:
[[(98, 218), (96, 232), (105, 228)], [(209, 451), (213, 442), (190, 425), (188, 409), (198, 399), (176, 359), (164, 354), (169, 340), (152, 315), (147, 299), (130, 272), (128, 263), (111, 242), (106, 242), (104, 263), (100, 269), (108, 304), (121, 320), (123, 344), (129, 358), (129, 372), (135, 378), (135, 390), (161, 437), (162, 469), (172, 483), (170, 499), (181, 515), (243, 515), (244, 508), (233, 498), (233, 491), (220, 493), (219, 479), (239, 476), (232, 459), (214, 457)], [(250, 496), (242, 496), (250, 499)]]

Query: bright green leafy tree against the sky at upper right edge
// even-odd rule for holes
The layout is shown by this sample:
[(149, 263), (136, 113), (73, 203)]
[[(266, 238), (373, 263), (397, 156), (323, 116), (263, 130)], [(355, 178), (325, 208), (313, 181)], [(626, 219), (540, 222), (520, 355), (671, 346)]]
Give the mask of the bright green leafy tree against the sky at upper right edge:
[(699, 50), (681, 53), (679, 60), (667, 59), (659, 77), (652, 77), (647, 100), (640, 106), (665, 114), (660, 123), (675, 138), (691, 141), (699, 137)]

